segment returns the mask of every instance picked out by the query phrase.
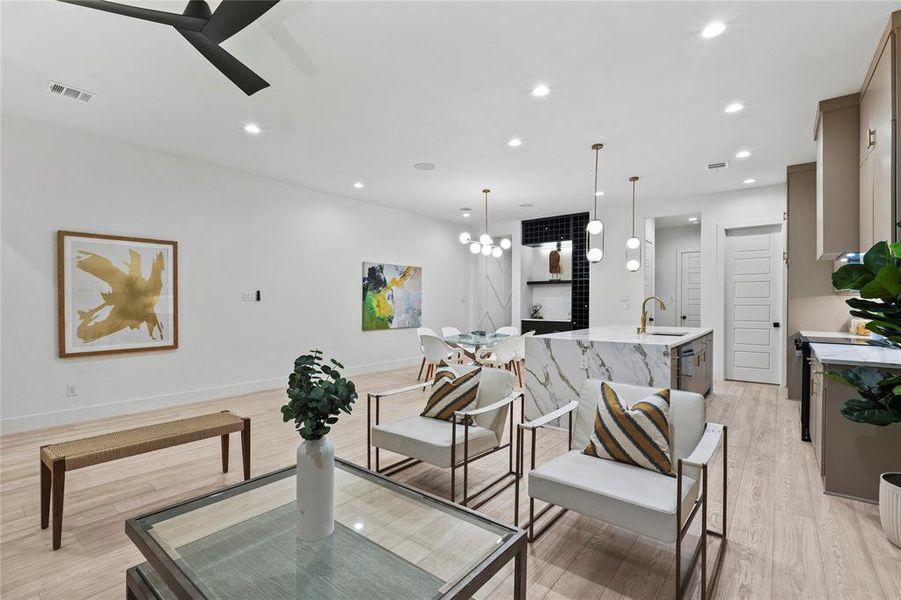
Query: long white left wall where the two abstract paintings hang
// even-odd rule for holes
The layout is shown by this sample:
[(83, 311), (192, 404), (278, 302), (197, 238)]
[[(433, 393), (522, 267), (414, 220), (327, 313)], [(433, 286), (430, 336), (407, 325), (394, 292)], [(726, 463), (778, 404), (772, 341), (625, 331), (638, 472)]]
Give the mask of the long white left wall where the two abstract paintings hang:
[[(423, 267), (424, 325), (471, 324), (457, 226), (7, 115), (2, 133), (4, 431), (281, 387), (313, 347), (350, 373), (415, 364), (414, 330), (361, 331), (364, 260)], [(177, 240), (180, 348), (58, 358), (58, 229)]]

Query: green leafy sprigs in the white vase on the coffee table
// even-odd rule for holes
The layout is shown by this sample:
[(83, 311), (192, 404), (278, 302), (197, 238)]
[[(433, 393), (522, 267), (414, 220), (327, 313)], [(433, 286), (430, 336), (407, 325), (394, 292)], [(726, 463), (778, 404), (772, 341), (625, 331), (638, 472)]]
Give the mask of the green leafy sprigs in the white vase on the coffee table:
[(326, 364), (321, 350), (297, 357), (288, 376), (288, 402), (282, 419), (294, 421), (300, 436), (309, 441), (322, 439), (342, 412), (350, 414), (357, 399), (354, 383), (341, 375), (344, 365), (335, 359)]

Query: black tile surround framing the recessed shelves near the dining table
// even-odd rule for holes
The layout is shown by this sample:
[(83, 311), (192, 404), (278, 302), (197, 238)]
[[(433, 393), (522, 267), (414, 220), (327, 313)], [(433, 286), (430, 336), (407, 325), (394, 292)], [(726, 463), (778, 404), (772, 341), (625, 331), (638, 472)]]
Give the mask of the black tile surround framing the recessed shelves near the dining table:
[(560, 215), (522, 222), (522, 243), (540, 246), (572, 240), (572, 328), (588, 328), (588, 259), (585, 258), (585, 227), (588, 213)]

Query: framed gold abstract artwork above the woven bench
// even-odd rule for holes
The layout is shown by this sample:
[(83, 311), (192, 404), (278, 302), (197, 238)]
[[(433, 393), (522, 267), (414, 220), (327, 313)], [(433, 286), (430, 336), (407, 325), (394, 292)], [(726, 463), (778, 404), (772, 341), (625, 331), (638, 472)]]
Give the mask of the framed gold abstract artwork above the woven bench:
[(62, 358), (178, 348), (178, 242), (57, 232)]

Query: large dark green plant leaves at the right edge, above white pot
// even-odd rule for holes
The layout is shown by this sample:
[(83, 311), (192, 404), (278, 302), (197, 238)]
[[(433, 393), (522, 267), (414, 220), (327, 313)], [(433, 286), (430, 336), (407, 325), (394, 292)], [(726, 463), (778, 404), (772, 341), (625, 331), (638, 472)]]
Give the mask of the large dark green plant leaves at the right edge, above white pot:
[[(877, 242), (864, 254), (863, 263), (835, 271), (832, 285), (860, 292), (860, 298), (846, 302), (851, 316), (867, 319), (867, 329), (884, 338), (871, 343), (901, 348), (901, 242)], [(842, 406), (846, 418), (880, 426), (901, 423), (901, 376), (875, 367), (827, 374), (860, 394), (860, 398), (847, 400)]]

